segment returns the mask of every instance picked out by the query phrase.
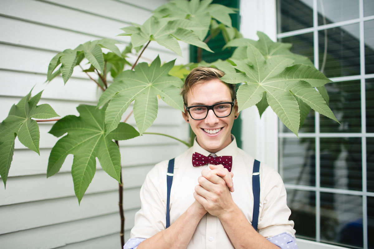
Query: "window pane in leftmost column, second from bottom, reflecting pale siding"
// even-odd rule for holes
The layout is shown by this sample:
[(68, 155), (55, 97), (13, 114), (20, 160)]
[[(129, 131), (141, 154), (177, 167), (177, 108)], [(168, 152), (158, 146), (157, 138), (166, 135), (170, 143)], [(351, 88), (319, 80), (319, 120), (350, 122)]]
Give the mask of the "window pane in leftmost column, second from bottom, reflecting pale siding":
[(279, 148), (284, 183), (315, 186), (315, 139), (279, 138)]

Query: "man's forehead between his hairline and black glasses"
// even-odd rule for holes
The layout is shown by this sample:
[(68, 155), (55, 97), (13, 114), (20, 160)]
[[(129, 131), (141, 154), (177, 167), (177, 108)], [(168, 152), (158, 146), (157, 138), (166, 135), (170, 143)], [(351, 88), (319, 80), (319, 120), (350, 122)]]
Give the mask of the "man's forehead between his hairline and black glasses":
[(187, 105), (213, 105), (219, 102), (230, 102), (230, 88), (221, 80), (214, 79), (197, 83), (187, 93)]

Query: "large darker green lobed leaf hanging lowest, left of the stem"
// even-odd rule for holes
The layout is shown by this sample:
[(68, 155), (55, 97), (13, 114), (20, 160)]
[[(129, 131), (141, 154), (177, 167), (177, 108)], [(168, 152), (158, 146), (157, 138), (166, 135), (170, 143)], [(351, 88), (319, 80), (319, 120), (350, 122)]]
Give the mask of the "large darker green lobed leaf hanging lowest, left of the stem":
[(126, 140), (139, 136), (139, 133), (129, 124), (121, 123), (116, 130), (106, 134), (104, 123), (105, 105), (102, 109), (97, 106), (79, 105), (80, 116), (68, 115), (60, 119), (49, 131), (60, 138), (49, 156), (47, 177), (56, 174), (65, 158), (74, 155), (71, 175), (73, 176), (74, 191), (78, 201), (82, 199), (96, 171), (96, 157), (102, 169), (108, 175), (120, 181), (120, 152), (112, 139)]

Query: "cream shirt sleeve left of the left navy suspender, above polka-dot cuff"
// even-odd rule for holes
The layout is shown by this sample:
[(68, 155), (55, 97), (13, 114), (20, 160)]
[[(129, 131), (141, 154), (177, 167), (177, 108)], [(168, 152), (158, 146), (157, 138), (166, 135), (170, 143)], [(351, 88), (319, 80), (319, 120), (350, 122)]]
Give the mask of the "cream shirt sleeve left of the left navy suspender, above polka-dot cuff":
[[(157, 164), (148, 172), (140, 190), (141, 209), (135, 214), (131, 238), (148, 239), (166, 226), (166, 169)], [(165, 192), (165, 193), (164, 193)]]

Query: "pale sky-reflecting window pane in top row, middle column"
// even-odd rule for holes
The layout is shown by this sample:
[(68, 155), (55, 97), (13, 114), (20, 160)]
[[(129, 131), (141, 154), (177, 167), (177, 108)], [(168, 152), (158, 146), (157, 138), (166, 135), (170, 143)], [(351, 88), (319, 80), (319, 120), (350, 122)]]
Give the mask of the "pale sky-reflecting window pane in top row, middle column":
[(318, 25), (359, 18), (358, 0), (323, 0), (318, 4)]

